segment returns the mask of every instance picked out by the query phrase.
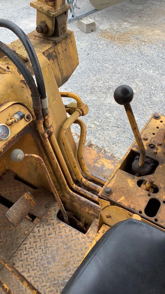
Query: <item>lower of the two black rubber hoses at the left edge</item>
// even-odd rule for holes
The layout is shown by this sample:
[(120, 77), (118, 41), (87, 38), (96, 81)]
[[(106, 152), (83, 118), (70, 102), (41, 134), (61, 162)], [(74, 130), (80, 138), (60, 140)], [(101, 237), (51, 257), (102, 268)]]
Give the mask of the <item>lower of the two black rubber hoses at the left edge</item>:
[(0, 41), (0, 51), (3, 52), (14, 63), (14, 65), (17, 67), (17, 69), (20, 71), (21, 75), (25, 79), (31, 91), (33, 109), (34, 109), (36, 118), (38, 120), (42, 119), (43, 117), (42, 117), (42, 106), (41, 106), (40, 94), (38, 92), (38, 88), (36, 86), (36, 83), (30, 71), (27, 69), (23, 61), (18, 57), (18, 55), (16, 55), (14, 51), (12, 51), (7, 45), (5, 45), (1, 41)]

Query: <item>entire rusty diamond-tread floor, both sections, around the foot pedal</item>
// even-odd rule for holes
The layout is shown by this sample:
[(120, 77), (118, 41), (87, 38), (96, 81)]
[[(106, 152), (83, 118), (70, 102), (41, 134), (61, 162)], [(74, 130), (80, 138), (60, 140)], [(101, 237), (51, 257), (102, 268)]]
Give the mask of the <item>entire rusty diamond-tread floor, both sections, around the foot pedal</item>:
[[(9, 186), (9, 179), (7, 181)], [(17, 180), (13, 178), (12, 181)], [(17, 181), (17, 183), (14, 182), (14, 185), (14, 189), (6, 185), (6, 192), (0, 189), (0, 195), (3, 193), (2, 196), (8, 198), (10, 201), (17, 201), (23, 193), (21, 191), (18, 197), (16, 189), (25, 184)], [(23, 189), (29, 191), (29, 189), (27, 190), (28, 186), (25, 186)], [(39, 189), (32, 190), (29, 192), (35, 197), (33, 192)], [(16, 195), (15, 201), (13, 200), (13, 191)], [(47, 193), (49, 194), (50, 192), (47, 191)], [(46, 197), (47, 195), (44, 194), (43, 198), (45, 199)], [(37, 197), (35, 198), (38, 202)], [(48, 201), (49, 198), (50, 201)], [(51, 193), (44, 201), (44, 206), (41, 206), (41, 210), (43, 207), (44, 209), (41, 213), (42, 215), (43, 213), (45, 214), (39, 220), (38, 224), (35, 226), (34, 223), (24, 219), (17, 228), (14, 228), (9, 220), (4, 217), (8, 208), (0, 205), (0, 208), (2, 208), (0, 218), (0, 255), (7, 257), (41, 293), (59, 294), (78, 267), (92, 240), (95, 238), (98, 220), (95, 219), (93, 221), (86, 234), (80, 233), (58, 220), (57, 213), (59, 208), (57, 203), (52, 201)], [(42, 202), (42, 199), (40, 202)], [(49, 206), (50, 208), (48, 208)], [(32, 213), (36, 215), (37, 210), (36, 213), (34, 211)], [(40, 212), (38, 210), (38, 216), (39, 214)], [(0, 270), (0, 278), (14, 294), (29, 293), (6, 268)], [(0, 290), (0, 294), (2, 293)]]

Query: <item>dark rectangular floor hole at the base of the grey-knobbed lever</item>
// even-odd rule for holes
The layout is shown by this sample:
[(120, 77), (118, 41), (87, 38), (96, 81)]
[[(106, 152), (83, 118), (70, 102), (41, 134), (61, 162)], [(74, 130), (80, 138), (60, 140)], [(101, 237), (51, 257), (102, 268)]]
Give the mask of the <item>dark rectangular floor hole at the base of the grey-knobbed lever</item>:
[[(87, 220), (85, 220), (80, 215), (77, 215), (76, 213), (72, 211), (66, 211), (69, 219), (68, 225), (70, 225), (72, 228), (78, 230), (79, 232), (86, 234), (86, 232), (89, 229), (89, 225), (87, 224)], [(59, 210), (57, 213), (57, 217), (59, 220), (64, 222), (63, 215), (61, 211)]]

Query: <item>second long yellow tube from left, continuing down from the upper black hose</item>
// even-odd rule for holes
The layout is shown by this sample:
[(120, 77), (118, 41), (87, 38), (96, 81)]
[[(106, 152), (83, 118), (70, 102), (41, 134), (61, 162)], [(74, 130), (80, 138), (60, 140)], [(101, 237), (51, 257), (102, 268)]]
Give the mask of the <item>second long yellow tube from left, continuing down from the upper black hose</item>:
[[(48, 118), (45, 119), (44, 123), (45, 123), (45, 127), (46, 127), (46, 128), (48, 128), (48, 127), (50, 126), (50, 123), (49, 123), (49, 119), (48, 119)], [(54, 133), (51, 133), (51, 134), (49, 135), (49, 138), (50, 138), (50, 141), (51, 141), (51, 143), (52, 143), (52, 145), (53, 145), (53, 148), (54, 148), (54, 150), (55, 150), (55, 153), (56, 153), (56, 155), (57, 155), (57, 157), (58, 157), (58, 159), (59, 159), (60, 165), (61, 165), (61, 167), (62, 167), (62, 169), (63, 169), (63, 172), (64, 172), (64, 174), (65, 174), (65, 176), (66, 176), (66, 179), (67, 179), (67, 181), (68, 181), (70, 187), (71, 187), (72, 189), (74, 189), (75, 191), (81, 193), (81, 194), (84, 195), (85, 197), (90, 198), (90, 199), (92, 199), (93, 201), (99, 203), (99, 201), (98, 201), (98, 197), (97, 197), (96, 195), (94, 195), (94, 194), (92, 194), (92, 193), (90, 193), (90, 192), (84, 190), (83, 188), (81, 188), (81, 187), (75, 185), (75, 183), (73, 182), (73, 179), (72, 179), (72, 177), (71, 177), (71, 175), (70, 175), (70, 173), (69, 173), (68, 167), (67, 167), (67, 165), (66, 165), (66, 163), (65, 163), (65, 160), (64, 160), (64, 158), (63, 158), (63, 155), (62, 155), (62, 153), (61, 153), (60, 147), (59, 147), (59, 145), (58, 145), (58, 143), (57, 143), (57, 140), (56, 140), (56, 138), (55, 138)]]

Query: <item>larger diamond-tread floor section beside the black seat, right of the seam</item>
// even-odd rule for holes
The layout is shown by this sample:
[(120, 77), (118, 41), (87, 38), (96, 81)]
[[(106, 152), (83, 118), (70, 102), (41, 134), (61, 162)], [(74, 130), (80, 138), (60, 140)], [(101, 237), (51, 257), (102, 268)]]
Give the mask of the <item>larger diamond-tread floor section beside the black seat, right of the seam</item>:
[[(62, 291), (97, 233), (97, 219), (83, 234), (58, 220), (58, 210), (54, 203), (10, 259), (43, 294)], [(0, 277), (14, 293), (24, 293), (5, 268)]]

